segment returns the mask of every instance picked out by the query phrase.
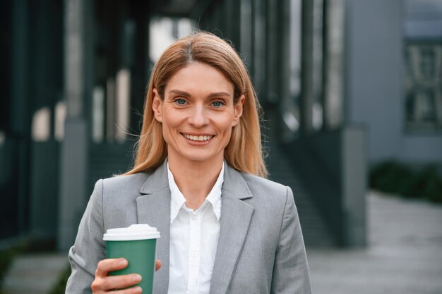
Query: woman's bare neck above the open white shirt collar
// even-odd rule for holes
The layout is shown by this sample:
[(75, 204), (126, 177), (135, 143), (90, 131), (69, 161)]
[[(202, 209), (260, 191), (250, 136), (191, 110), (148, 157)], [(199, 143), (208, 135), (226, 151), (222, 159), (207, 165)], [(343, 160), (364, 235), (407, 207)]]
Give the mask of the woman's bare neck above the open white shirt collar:
[(196, 210), (203, 204), (220, 175), (223, 160), (183, 161), (167, 157), (175, 183), (186, 198), (186, 207)]

